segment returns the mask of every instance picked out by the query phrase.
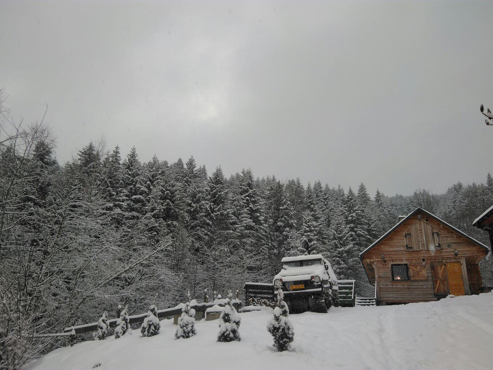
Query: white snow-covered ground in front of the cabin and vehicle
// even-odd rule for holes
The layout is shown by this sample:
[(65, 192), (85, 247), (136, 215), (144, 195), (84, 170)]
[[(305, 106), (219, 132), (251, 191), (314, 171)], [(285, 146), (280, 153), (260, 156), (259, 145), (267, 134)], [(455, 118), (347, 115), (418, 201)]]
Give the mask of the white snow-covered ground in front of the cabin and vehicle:
[(218, 321), (197, 322), (197, 335), (161, 333), (57, 349), (22, 370), (128, 369), (492, 369), (493, 293), (400, 306), (332, 307), (290, 315), (295, 339), (278, 353), (266, 330), (272, 310), (242, 313), (241, 342), (216, 342)]

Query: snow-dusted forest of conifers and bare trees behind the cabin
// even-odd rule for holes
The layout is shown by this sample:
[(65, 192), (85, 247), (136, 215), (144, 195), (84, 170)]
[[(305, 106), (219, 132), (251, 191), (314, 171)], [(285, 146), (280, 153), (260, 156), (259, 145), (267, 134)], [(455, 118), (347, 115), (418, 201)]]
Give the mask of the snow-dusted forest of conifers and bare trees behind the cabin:
[(372, 292), (359, 253), (418, 206), (487, 243), (471, 226), (493, 203), (486, 173), (486, 184), (458, 182), (445, 194), (387, 196), (337, 179), (224, 174), (193, 156), (147, 160), (104, 141), (58, 163), (42, 123), (1, 134), (0, 355), (12, 363), (57, 345), (29, 334), (97, 321), (119, 304), (141, 313), (154, 297), (165, 308), (187, 290), (201, 298), (271, 282), (284, 256), (320, 253), (340, 279)]

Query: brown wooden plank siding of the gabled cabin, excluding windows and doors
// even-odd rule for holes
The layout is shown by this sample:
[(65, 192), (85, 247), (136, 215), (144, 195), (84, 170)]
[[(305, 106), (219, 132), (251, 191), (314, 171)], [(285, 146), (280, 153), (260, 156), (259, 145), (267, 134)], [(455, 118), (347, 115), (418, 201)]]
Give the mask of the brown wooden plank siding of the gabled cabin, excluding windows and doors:
[[(472, 274), (469, 271), (473, 271), (473, 267), (468, 265), (477, 265), (486, 256), (486, 250), (427, 215), (421, 215), (419, 220), (419, 215), (403, 222), (363, 255), (368, 277), (376, 281), (380, 303), (423, 302), (444, 296), (444, 293), (435, 295), (432, 266), (446, 262), (460, 263), (466, 294), (479, 289), (476, 281), (469, 286), (468, 277)], [(410, 243), (413, 249), (409, 249)], [(455, 251), (458, 251), (457, 257)], [(409, 281), (392, 281), (391, 265), (398, 263), (408, 264)], [(442, 285), (448, 290), (448, 285)]]

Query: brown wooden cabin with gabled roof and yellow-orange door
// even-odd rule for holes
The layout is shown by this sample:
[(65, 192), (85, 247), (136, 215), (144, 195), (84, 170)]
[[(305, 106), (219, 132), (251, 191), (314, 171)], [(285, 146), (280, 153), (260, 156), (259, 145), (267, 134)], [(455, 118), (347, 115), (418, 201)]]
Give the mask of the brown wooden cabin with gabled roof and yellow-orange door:
[(487, 246), (422, 208), (401, 218), (359, 256), (377, 304), (480, 293)]

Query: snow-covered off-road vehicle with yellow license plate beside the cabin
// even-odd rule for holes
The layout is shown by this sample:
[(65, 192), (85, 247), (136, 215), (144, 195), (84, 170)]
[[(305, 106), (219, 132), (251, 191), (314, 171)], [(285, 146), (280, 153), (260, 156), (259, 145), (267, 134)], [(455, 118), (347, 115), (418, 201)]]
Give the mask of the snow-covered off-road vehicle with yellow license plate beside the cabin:
[(281, 263), (273, 283), (274, 289), (281, 284), (289, 313), (327, 312), (332, 304), (339, 306), (337, 277), (322, 255), (284, 257)]

